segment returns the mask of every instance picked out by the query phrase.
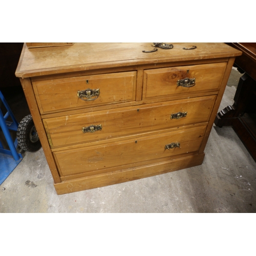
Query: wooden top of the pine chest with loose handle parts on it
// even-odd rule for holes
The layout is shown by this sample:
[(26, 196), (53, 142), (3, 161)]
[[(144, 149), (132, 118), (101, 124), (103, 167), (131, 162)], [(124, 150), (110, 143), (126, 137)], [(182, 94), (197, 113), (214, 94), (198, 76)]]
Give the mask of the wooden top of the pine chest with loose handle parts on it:
[[(15, 75), (20, 78), (152, 63), (225, 58), (241, 52), (224, 43), (173, 43), (173, 49), (154, 49), (151, 42), (74, 43), (65, 47), (29, 49), (26, 44)], [(197, 46), (194, 50), (184, 50)]]

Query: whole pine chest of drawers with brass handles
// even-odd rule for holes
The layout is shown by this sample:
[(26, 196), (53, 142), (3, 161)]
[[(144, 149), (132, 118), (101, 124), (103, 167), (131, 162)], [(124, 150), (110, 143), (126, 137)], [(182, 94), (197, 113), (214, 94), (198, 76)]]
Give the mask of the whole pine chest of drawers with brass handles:
[(241, 52), (221, 43), (173, 46), (148, 53), (151, 43), (24, 44), (15, 74), (57, 194), (202, 164)]

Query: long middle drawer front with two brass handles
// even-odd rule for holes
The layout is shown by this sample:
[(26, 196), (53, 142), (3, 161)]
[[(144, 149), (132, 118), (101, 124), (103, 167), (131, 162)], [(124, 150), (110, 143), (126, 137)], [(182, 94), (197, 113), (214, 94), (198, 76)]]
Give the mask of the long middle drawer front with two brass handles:
[(51, 146), (66, 146), (206, 122), (215, 99), (216, 96), (197, 97), (43, 121)]

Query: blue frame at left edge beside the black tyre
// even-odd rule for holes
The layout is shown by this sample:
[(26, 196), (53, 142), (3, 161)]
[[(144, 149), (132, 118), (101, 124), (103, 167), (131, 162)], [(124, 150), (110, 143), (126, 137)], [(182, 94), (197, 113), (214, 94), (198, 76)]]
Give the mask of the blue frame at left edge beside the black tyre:
[[(11, 134), (9, 130), (17, 131), (18, 122), (16, 121), (13, 113), (7, 101), (4, 98), (4, 95), (0, 91), (0, 99), (3, 102), (7, 112), (5, 114), (0, 110), (0, 127), (4, 133), (5, 139), (10, 150), (4, 148), (2, 142), (0, 141), (0, 185), (6, 180), (6, 178), (10, 175), (10, 173), (15, 169), (15, 167), (22, 161), (22, 154), (17, 153), (17, 138), (13, 142)], [(7, 121), (8, 117), (11, 117), (12, 122)]]

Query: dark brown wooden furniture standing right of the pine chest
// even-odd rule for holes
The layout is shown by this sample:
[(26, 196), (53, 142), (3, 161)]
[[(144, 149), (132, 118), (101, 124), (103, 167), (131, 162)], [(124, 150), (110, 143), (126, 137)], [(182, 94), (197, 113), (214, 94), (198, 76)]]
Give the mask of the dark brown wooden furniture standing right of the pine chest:
[(233, 105), (217, 114), (215, 125), (232, 126), (256, 161), (256, 43), (232, 42), (228, 45), (243, 52), (236, 57), (234, 67), (244, 75), (240, 78)]

